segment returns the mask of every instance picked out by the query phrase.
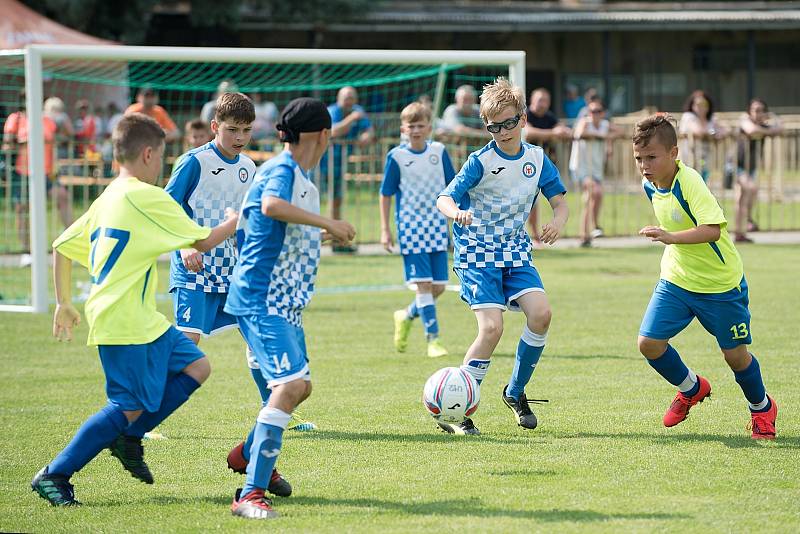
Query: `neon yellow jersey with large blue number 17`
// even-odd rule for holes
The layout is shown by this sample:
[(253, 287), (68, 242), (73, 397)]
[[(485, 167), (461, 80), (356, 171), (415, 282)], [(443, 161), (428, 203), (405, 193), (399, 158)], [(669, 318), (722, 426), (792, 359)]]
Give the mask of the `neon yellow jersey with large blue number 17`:
[(166, 332), (156, 310), (156, 260), (211, 233), (163, 189), (117, 178), (53, 242), (60, 254), (89, 270), (89, 345), (139, 345)]

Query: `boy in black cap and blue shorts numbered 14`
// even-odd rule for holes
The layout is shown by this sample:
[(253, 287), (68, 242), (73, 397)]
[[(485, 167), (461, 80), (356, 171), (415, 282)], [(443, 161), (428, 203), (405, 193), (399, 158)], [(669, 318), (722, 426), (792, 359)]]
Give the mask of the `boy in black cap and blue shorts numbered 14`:
[(292, 100), (277, 128), (284, 151), (259, 169), (242, 204), (241, 249), (225, 304), (258, 364), (253, 377), (266, 400), (248, 438), (247, 480), (231, 505), (233, 515), (249, 519), (277, 516), (264, 491), (291, 413), (311, 394), (302, 311), (314, 292), (321, 243), (355, 237), (349, 223), (319, 215), (319, 191), (308, 179), (330, 138), (325, 105)]

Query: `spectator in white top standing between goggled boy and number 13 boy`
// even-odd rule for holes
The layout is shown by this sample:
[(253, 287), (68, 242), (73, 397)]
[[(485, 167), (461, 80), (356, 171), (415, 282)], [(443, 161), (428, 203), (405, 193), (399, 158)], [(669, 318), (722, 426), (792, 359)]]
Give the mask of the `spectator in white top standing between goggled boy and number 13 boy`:
[(583, 190), (582, 247), (591, 246), (593, 237), (603, 235), (597, 221), (603, 201), (603, 170), (610, 152), (608, 141), (622, 133), (605, 118), (602, 100), (595, 98), (586, 107), (588, 113), (578, 119), (575, 126), (575, 140), (569, 157), (572, 179), (581, 184)]

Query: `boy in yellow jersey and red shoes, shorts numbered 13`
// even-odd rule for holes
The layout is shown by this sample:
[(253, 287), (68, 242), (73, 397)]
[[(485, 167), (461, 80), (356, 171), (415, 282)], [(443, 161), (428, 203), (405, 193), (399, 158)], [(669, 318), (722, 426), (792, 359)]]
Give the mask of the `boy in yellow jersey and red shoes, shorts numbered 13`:
[(636, 124), (633, 155), (659, 226), (640, 235), (666, 245), (659, 280), (639, 329), (639, 350), (658, 374), (678, 387), (664, 415), (675, 426), (711, 395), (669, 344), (697, 317), (717, 338), (750, 405), (753, 439), (775, 439), (778, 405), (767, 395), (758, 360), (748, 350), (750, 311), (742, 260), (728, 235), (728, 222), (700, 174), (678, 156), (670, 118), (654, 115)]

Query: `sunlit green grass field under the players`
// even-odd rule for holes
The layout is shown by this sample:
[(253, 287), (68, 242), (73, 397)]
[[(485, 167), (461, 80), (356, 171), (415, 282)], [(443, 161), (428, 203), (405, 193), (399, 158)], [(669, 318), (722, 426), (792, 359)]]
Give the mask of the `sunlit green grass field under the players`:
[(58, 344), (50, 317), (4, 314), (0, 531), (797, 532), (797, 248), (742, 247), (752, 350), (780, 405), (772, 443), (750, 439), (741, 391), (697, 324), (675, 346), (714, 396), (678, 427), (661, 425), (674, 390), (635, 343), (659, 254), (655, 246), (540, 253), (554, 320), (528, 393), (550, 403), (536, 409), (532, 432), (501, 403), (522, 329), (522, 317), (507, 314), (475, 438), (439, 433), (420, 402), (425, 379), (457, 365), (474, 337), (466, 306), (451, 292), (440, 302), (452, 356), (422, 356), (419, 324), (409, 352), (397, 355), (391, 312), (411, 293), (353, 286), (399, 283), (399, 259), (324, 258), (305, 315), (315, 389), (301, 408), (321, 430), (286, 433), (279, 469), (295, 494), (276, 499), (282, 518), (268, 525), (228, 508), (242, 478), (225, 456), (258, 409), (238, 334), (203, 342), (211, 378), (162, 425), (169, 439), (146, 442), (154, 486), (104, 452), (73, 477), (84, 506), (54, 509), (28, 483), (104, 403), (102, 371), (82, 343), (85, 325), (78, 340)]

